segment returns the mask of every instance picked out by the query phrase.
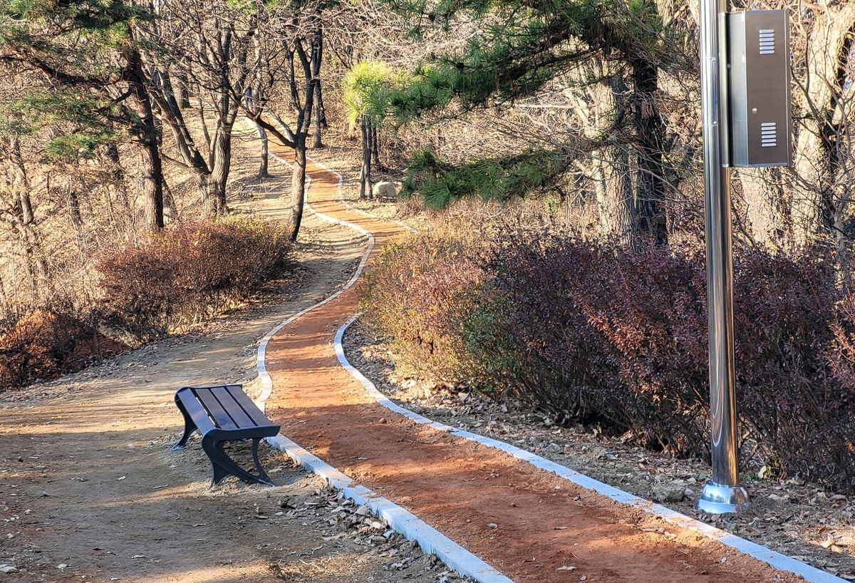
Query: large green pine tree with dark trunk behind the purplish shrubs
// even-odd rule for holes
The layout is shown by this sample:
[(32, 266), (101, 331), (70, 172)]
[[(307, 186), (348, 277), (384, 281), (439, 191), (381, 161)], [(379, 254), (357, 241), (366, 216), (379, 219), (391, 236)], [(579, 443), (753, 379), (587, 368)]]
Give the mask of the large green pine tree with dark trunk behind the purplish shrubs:
[[(453, 29), (458, 17), (465, 17), (480, 25), (480, 33), (463, 50), (432, 55), (416, 69), (411, 82), (390, 97), (401, 121), (452, 102), (463, 112), (486, 106), (501, 108), (594, 59), (609, 62), (610, 75), (625, 75), (631, 87), (627, 100), (631, 115), (621, 117), (629, 126), (626, 145), (637, 160), (636, 230), (660, 243), (667, 241), (662, 208), (665, 138), (658, 75), (671, 55), (663, 44), (664, 29), (655, 3), (441, 0), (430, 8), (422, 1), (390, 4), (420, 23)], [(608, 79), (591, 77), (587, 83), (608, 83)], [(549, 160), (550, 156), (537, 159)]]

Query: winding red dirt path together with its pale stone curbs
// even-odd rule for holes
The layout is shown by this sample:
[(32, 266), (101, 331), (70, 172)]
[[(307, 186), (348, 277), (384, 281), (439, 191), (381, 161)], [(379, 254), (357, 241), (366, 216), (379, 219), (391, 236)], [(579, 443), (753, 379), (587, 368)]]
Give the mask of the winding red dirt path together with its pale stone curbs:
[[(315, 180), (308, 200), (316, 214), (357, 228), (369, 240), (373, 231), (378, 244), (401, 233), (391, 221), (343, 208), (340, 176), (314, 162), (311, 167)], [(280, 450), (357, 503), (368, 503), (458, 573), (484, 583), (842, 581), (528, 451), (434, 423), (388, 401), (347, 363), (340, 347), (350, 323), (343, 326), (343, 320), (356, 311), (350, 288), (372, 246), (345, 288), (274, 328), (259, 348), (268, 415), (293, 439), (272, 440)], [(286, 328), (298, 319), (298, 326)], [(383, 490), (386, 498), (356, 486), (356, 480)], [(465, 541), (472, 552), (416, 515)], [(658, 522), (675, 532), (662, 533)]]

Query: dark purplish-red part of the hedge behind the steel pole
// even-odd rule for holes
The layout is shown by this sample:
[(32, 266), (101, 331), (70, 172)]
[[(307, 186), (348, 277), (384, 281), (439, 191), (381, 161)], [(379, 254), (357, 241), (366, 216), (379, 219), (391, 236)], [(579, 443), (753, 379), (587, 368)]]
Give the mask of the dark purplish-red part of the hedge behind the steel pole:
[[(538, 402), (565, 415), (593, 409), (676, 455), (708, 454), (702, 250), (563, 240), (542, 251), (511, 248), (499, 265), (495, 286), (510, 298), (499, 319), (528, 362), (516, 369), (528, 373), (519, 384)], [(853, 392), (828, 368), (838, 350), (838, 297), (833, 270), (812, 252), (793, 259), (737, 250), (736, 390), (746, 458), (848, 489), (855, 452), (846, 453), (840, 428), (852, 426)]]

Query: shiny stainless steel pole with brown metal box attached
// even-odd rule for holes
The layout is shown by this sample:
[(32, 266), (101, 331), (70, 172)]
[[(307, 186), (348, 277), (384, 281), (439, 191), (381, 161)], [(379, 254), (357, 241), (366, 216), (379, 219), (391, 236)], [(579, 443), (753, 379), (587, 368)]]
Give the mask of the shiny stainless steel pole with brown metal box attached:
[(696, 506), (721, 514), (751, 505), (737, 462), (729, 167), (793, 163), (789, 26), (786, 10), (729, 13), (728, 0), (699, 2), (712, 478)]

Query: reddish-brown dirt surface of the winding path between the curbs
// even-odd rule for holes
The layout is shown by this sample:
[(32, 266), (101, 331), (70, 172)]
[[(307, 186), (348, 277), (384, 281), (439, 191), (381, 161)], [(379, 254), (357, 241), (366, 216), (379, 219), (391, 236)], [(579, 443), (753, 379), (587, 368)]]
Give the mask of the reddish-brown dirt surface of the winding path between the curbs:
[[(333, 174), (311, 163), (309, 173), (315, 210), (374, 233), (375, 250), (402, 235), (394, 223), (341, 205)], [(795, 580), (503, 452), (416, 426), (380, 407), (333, 351), (336, 330), (356, 311), (356, 294), (346, 291), (274, 337), (268, 415), (288, 438), (517, 583)]]

